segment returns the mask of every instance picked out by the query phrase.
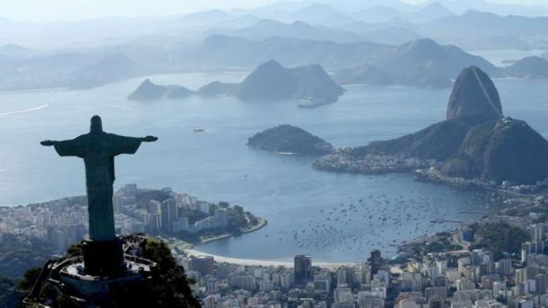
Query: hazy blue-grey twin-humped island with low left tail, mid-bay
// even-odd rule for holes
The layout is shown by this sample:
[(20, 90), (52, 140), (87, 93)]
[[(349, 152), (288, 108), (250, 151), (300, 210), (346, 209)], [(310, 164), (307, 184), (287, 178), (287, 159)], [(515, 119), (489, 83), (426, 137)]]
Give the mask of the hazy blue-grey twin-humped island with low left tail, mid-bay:
[(285, 68), (273, 60), (261, 64), (240, 84), (214, 81), (191, 91), (183, 86), (161, 86), (149, 79), (128, 98), (134, 101), (176, 99), (191, 95), (236, 96), (242, 101), (299, 101), (300, 108), (315, 108), (335, 103), (345, 90), (318, 64)]

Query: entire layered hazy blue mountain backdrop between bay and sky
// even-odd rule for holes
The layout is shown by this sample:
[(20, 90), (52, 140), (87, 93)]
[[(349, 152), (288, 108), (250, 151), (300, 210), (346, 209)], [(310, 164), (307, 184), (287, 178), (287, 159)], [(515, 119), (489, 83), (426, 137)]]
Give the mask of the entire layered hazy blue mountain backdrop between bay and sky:
[[(497, 15), (508, 12), (523, 16)], [(493, 77), (544, 78), (548, 72), (539, 59), (540, 65), (526, 59), (499, 69), (466, 50), (547, 50), (547, 16), (547, 8), (485, 1), (345, 0), (74, 22), (4, 18), (0, 69), (6, 74), (0, 76), (0, 91), (89, 88), (144, 74), (251, 70), (270, 59), (287, 67), (319, 64), (341, 84), (443, 88), (471, 65)], [(120, 61), (109, 65), (112, 59)]]

